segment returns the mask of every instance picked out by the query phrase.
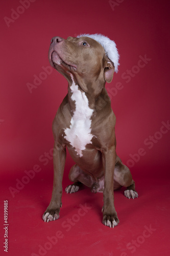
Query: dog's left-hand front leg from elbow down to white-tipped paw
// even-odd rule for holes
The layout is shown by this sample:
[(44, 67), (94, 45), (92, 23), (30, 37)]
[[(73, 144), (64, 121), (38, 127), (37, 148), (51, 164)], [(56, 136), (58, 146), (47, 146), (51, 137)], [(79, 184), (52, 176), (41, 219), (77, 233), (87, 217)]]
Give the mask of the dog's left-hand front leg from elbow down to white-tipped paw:
[(54, 182), (52, 199), (44, 212), (42, 219), (44, 222), (55, 221), (59, 218), (60, 207), (62, 206), (62, 179), (64, 172), (64, 165), (66, 159), (66, 150), (61, 144), (55, 142), (53, 152), (54, 162)]

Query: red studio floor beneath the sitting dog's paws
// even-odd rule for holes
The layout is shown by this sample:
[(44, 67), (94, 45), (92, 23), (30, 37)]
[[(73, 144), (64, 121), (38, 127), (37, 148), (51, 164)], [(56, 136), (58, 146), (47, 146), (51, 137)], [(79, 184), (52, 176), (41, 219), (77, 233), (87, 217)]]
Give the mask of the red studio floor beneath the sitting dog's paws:
[[(15, 179), (22, 176), (4, 179), (1, 202), (8, 200), (8, 254), (1, 244), (1, 255), (169, 255), (168, 180), (139, 179), (138, 174), (135, 200), (125, 198), (124, 189), (115, 191), (120, 223), (111, 229), (102, 224), (103, 194), (92, 194), (87, 187), (75, 194), (63, 192), (59, 220), (44, 223), (41, 216), (51, 199), (52, 172), (47, 176), (47, 172), (36, 174), (14, 198), (9, 187), (15, 187)], [(68, 184), (67, 178), (63, 183)]]

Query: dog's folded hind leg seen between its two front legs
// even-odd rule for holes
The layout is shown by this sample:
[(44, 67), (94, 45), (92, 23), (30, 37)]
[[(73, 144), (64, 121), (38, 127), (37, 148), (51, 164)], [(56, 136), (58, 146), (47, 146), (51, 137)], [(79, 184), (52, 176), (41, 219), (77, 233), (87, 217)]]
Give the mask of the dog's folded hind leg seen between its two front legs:
[(67, 194), (77, 192), (82, 184), (88, 187), (91, 187), (93, 184), (92, 177), (84, 173), (77, 164), (71, 167), (68, 178), (74, 183), (65, 188)]

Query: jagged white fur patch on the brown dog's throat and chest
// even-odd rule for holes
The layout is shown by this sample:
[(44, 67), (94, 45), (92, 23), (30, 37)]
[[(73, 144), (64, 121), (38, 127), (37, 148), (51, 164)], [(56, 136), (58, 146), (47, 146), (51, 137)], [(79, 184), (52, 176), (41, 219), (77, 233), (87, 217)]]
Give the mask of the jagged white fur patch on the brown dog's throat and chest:
[(71, 118), (69, 128), (65, 129), (64, 138), (70, 143), (72, 147), (75, 147), (77, 155), (83, 156), (82, 151), (85, 150), (87, 144), (91, 144), (93, 135), (91, 134), (91, 116), (93, 110), (88, 106), (88, 99), (84, 92), (78, 89), (74, 78), (71, 75), (72, 85), (70, 87), (72, 91), (71, 99), (75, 101), (76, 110)]

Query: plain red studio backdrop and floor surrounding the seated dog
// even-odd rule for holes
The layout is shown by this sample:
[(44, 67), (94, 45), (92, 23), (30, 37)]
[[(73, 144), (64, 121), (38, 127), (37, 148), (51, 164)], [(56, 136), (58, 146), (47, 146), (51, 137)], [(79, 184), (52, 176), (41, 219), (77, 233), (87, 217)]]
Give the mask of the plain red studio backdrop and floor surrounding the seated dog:
[[(160, 129), (162, 122), (170, 120), (169, 1), (115, 0), (112, 7), (104, 0), (32, 2), (27, 9), (19, 8), (17, 0), (0, 4), (0, 219), (3, 223), (3, 201), (8, 200), (8, 255), (38, 254), (38, 245), (61, 229), (62, 222), (83, 202), (93, 210), (65, 232), (62, 242), (46, 255), (168, 255), (170, 131), (164, 128), (167, 133), (162, 134)], [(11, 9), (20, 14), (11, 17)], [(4, 17), (15, 19), (7, 22)], [(81, 33), (108, 36), (120, 54), (119, 71), (106, 88), (114, 92), (110, 97), (116, 115), (117, 154), (124, 163), (130, 162), (130, 154), (136, 157), (134, 164), (130, 163), (139, 198), (129, 201), (121, 190), (115, 193), (120, 224), (114, 230), (101, 224), (102, 194), (93, 195), (87, 188), (75, 195), (63, 194), (61, 219), (48, 224), (41, 220), (52, 193), (52, 121), (67, 93), (67, 81), (53, 69), (32, 93), (27, 84), (34, 84), (35, 75), (43, 77), (42, 67), (50, 66), (47, 54), (53, 36), (67, 38)], [(144, 56), (149, 60), (141, 68), (138, 61)], [(125, 78), (129, 72), (130, 78)], [(118, 84), (121, 89), (116, 91)], [(146, 144), (150, 136), (154, 136), (152, 148)], [(134, 155), (140, 148), (143, 156)], [(67, 155), (63, 187), (69, 184), (72, 164)], [(41, 171), (12, 197), (9, 187), (16, 188), (16, 179), (21, 181), (25, 170), (35, 165)], [(150, 224), (156, 231), (135, 247), (136, 254), (132, 253), (126, 245)], [(2, 254), (3, 248), (0, 250)]]

